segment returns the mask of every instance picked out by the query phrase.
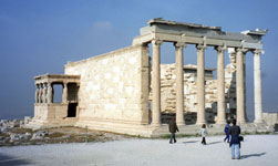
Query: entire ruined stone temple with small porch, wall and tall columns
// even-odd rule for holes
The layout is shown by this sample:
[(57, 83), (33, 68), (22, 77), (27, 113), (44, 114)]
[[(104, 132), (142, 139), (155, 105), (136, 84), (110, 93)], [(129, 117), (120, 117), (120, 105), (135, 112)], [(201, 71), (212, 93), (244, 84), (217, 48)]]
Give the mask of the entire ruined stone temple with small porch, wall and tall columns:
[[(181, 133), (200, 124), (220, 128), (227, 118), (239, 125), (264, 126), (261, 106), (261, 37), (256, 29), (240, 33), (220, 27), (153, 19), (131, 46), (64, 65), (64, 74), (34, 77), (33, 128), (79, 126), (155, 136), (167, 133), (175, 116)], [(161, 64), (161, 45), (173, 43), (175, 64)], [(197, 64), (184, 65), (184, 49), (196, 45)], [(205, 68), (205, 50), (215, 49), (217, 68)], [(152, 49), (152, 50), (151, 50)], [(229, 63), (225, 66), (225, 51)], [(255, 121), (247, 123), (245, 55), (254, 54)], [(152, 52), (152, 54), (151, 54)], [(192, 56), (193, 54), (191, 54)], [(217, 79), (213, 72), (217, 72)], [(53, 85), (63, 87), (62, 102), (53, 102)], [(247, 128), (247, 127), (246, 127)]]

